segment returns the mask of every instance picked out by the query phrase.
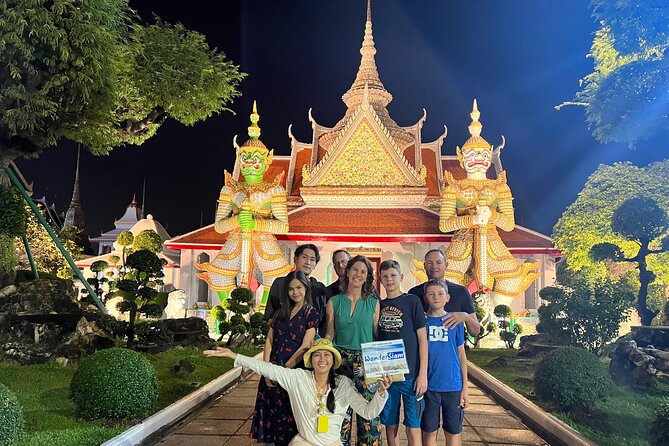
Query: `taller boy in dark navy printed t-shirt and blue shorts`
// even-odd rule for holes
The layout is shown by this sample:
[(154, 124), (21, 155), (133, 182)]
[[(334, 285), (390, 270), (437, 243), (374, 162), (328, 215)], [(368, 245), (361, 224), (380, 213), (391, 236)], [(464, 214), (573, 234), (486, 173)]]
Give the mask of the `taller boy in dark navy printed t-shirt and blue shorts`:
[(379, 268), (381, 284), (387, 297), (380, 303), (378, 340), (403, 339), (409, 373), (404, 381), (388, 388), (388, 401), (381, 412), (389, 446), (399, 446), (400, 400), (404, 404), (404, 425), (409, 446), (420, 446), (420, 420), (423, 394), (427, 390), (427, 334), (425, 312), (418, 296), (400, 290), (404, 275), (395, 260), (386, 260)]

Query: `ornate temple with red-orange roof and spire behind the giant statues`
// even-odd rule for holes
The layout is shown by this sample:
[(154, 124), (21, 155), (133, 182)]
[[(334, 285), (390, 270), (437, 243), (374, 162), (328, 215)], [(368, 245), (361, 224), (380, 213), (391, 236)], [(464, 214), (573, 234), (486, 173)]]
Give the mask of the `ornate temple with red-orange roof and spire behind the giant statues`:
[[(310, 109), (311, 140), (298, 141), (289, 127), (290, 156), (274, 156), (267, 171), (271, 178), (285, 172), (289, 232), (276, 238), (289, 261), (297, 245), (318, 246), (322, 260), (313, 275), (325, 284), (336, 280), (331, 253), (343, 248), (351, 255), (367, 256), (377, 267), (394, 258), (405, 273), (403, 289), (409, 289), (422, 281), (417, 262), (425, 252), (445, 250), (452, 237), (439, 230), (444, 171), (456, 179), (466, 174), (455, 155), (442, 154), (445, 126), (436, 140), (422, 140), (425, 110), (408, 126), (397, 124), (388, 113), (393, 97), (376, 67), (369, 3), (360, 53), (355, 80), (342, 96), (345, 115), (328, 127), (318, 123)], [(239, 175), (237, 163), (233, 178)], [(540, 262), (541, 277), (513, 304), (517, 312), (538, 308), (538, 291), (555, 281), (559, 253), (549, 237), (527, 228), (516, 226), (500, 236), (519, 263)], [(204, 295), (217, 303), (215, 293), (195, 277), (194, 265), (213, 259), (225, 239), (212, 224), (166, 242), (167, 248), (181, 251), (180, 284), (189, 306)]]

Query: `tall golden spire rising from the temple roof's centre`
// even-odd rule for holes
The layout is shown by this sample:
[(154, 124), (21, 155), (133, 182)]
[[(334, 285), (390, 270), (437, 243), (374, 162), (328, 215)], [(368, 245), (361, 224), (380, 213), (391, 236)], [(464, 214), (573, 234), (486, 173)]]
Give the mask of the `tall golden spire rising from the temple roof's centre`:
[(360, 48), (360, 66), (351, 88), (344, 93), (342, 99), (347, 107), (352, 108), (362, 102), (365, 85), (370, 89), (370, 103), (387, 106), (393, 100), (393, 96), (386, 91), (379, 72), (376, 68), (376, 47), (374, 46), (374, 35), (372, 34), (372, 2), (367, 0), (367, 22), (365, 23), (365, 35)]

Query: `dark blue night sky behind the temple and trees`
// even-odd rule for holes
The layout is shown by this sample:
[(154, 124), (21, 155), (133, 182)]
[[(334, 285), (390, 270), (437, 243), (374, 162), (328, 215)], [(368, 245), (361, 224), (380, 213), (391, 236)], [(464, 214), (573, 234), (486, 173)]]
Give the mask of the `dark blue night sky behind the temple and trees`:
[[(454, 154), (469, 136), (473, 98), (478, 98), (483, 136), (497, 144), (505, 135), (502, 162), (515, 196), (516, 221), (550, 235), (587, 177), (601, 163), (646, 165), (669, 157), (669, 132), (637, 144), (602, 145), (584, 122), (583, 109), (554, 106), (571, 100), (579, 79), (592, 71), (586, 58), (597, 29), (582, 0), (373, 0), (376, 63), (394, 99), (388, 109), (403, 126), (427, 110), (423, 140), (447, 125), (443, 151)], [(309, 141), (307, 111), (320, 124), (344, 114), (341, 95), (360, 62), (365, 0), (134, 0), (141, 17), (152, 13), (202, 32), (212, 47), (249, 73), (242, 98), (224, 114), (184, 127), (168, 121), (142, 147), (108, 157), (82, 154), (82, 204), (89, 235), (113, 228), (132, 195), (174, 236), (213, 221), (223, 169), (234, 162), (232, 137), (246, 138), (254, 99), (261, 139), (289, 154), (289, 124)], [(19, 167), (65, 209), (72, 192), (76, 147), (47, 149)]]

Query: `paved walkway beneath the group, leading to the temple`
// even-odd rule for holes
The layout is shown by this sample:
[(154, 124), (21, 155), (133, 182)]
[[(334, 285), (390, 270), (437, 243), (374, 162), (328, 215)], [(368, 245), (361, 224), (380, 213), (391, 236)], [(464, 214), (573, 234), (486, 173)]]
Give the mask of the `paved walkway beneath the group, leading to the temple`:
[[(211, 406), (178, 426), (156, 444), (161, 446), (255, 446), (249, 439), (258, 376), (238, 384)], [(514, 415), (497, 405), (481, 389), (469, 384), (470, 406), (465, 413), (463, 445), (546, 445)], [(406, 436), (401, 428), (402, 446)], [(384, 434), (385, 437), (385, 434)], [(437, 441), (443, 444), (443, 434)], [(385, 442), (384, 438), (384, 444)]]

